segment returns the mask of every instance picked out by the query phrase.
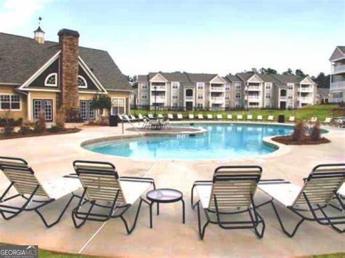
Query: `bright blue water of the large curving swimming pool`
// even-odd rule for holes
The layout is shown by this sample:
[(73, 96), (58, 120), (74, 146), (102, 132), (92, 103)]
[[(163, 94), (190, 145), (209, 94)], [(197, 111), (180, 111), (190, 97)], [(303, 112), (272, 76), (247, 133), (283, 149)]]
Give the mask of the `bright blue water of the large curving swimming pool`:
[(135, 159), (237, 159), (271, 153), (275, 149), (264, 144), (263, 137), (293, 132), (290, 126), (259, 124), (195, 124), (194, 127), (205, 128), (208, 132), (186, 138), (164, 136), (116, 140), (84, 148)]

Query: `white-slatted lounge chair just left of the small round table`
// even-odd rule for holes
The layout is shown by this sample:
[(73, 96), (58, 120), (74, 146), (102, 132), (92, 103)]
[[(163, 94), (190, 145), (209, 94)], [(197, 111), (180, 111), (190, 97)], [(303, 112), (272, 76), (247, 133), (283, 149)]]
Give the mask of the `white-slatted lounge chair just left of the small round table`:
[[(141, 195), (150, 187), (155, 188), (154, 180), (144, 177), (119, 177), (115, 166), (109, 162), (77, 160), (73, 162), (73, 167), (84, 187), (82, 198), (72, 211), (74, 226), (80, 228), (87, 220), (106, 222), (119, 217), (130, 234), (135, 228), (143, 202)], [(133, 225), (129, 228), (123, 214), (139, 199)], [(83, 210), (84, 206), (88, 207)], [(93, 210), (95, 206), (97, 209)]]

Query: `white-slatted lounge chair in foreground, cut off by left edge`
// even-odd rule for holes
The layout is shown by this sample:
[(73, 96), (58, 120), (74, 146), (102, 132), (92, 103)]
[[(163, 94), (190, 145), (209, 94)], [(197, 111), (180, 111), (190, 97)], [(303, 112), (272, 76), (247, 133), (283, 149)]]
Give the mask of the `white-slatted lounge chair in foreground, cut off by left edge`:
[[(41, 183), (25, 160), (10, 157), (0, 157), (0, 170), (10, 181), (9, 187), (0, 194), (0, 213), (5, 219), (11, 219), (23, 211), (35, 211), (44, 225), (50, 228), (60, 221), (74, 197), (80, 198), (74, 193), (81, 188), (78, 178), (60, 177), (51, 182)], [(8, 196), (12, 189), (17, 194)], [(61, 213), (58, 214), (58, 218), (54, 222), (48, 223), (40, 208), (66, 195), (71, 195), (71, 198), (68, 199)], [(7, 204), (9, 200), (21, 198), (23, 199), (21, 206), (13, 206), (11, 202)]]

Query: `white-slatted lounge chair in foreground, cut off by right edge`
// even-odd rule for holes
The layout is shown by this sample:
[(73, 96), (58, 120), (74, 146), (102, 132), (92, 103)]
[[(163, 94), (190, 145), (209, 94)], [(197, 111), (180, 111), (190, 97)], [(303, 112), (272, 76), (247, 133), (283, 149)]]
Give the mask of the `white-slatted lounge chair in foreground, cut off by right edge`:
[[(303, 187), (294, 185), (284, 179), (262, 180), (259, 182), (259, 189), (270, 196), (271, 200), (258, 207), (270, 203), (283, 232), (293, 237), (304, 220), (315, 221), (324, 226), (331, 226), (339, 233), (345, 230), (339, 226), (345, 226), (345, 216), (331, 216), (326, 214), (326, 206), (333, 207), (330, 201), (336, 198), (343, 206), (339, 196), (336, 194), (345, 180), (345, 163), (343, 164), (322, 164), (316, 166), (304, 180)], [(295, 214), (300, 220), (294, 230), (288, 232), (282, 222), (281, 216), (275, 207), (274, 201), (279, 202)], [(321, 211), (321, 213), (319, 212)], [(307, 214), (305, 214), (307, 213)], [(311, 215), (311, 216), (307, 216)]]

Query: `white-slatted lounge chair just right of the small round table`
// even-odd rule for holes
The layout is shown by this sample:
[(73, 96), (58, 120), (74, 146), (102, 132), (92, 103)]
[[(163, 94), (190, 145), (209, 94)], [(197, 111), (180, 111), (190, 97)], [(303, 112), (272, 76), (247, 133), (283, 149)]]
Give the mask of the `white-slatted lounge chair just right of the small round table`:
[[(261, 172), (262, 168), (259, 166), (221, 166), (216, 168), (212, 181), (194, 182), (191, 203), (193, 209), (197, 206), (200, 239), (203, 239), (205, 229), (210, 223), (229, 230), (254, 229), (257, 237), (262, 238), (265, 223), (256, 209), (253, 198)], [(195, 204), (194, 189), (199, 197), (199, 201)], [(200, 206), (207, 220), (203, 226), (201, 226)], [(247, 213), (250, 219), (238, 221), (220, 218), (234, 213)], [(212, 219), (214, 217), (216, 219)], [(262, 227), (259, 232), (260, 225)]]

